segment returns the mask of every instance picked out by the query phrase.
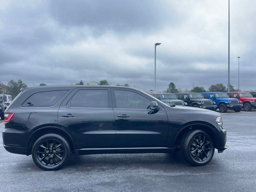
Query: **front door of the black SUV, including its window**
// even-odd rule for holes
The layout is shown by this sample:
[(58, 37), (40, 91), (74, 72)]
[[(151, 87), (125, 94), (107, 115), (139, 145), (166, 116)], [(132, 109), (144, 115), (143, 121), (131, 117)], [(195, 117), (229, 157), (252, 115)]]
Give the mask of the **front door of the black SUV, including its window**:
[(163, 147), (168, 135), (164, 108), (148, 109), (152, 98), (134, 90), (112, 88), (116, 147)]

